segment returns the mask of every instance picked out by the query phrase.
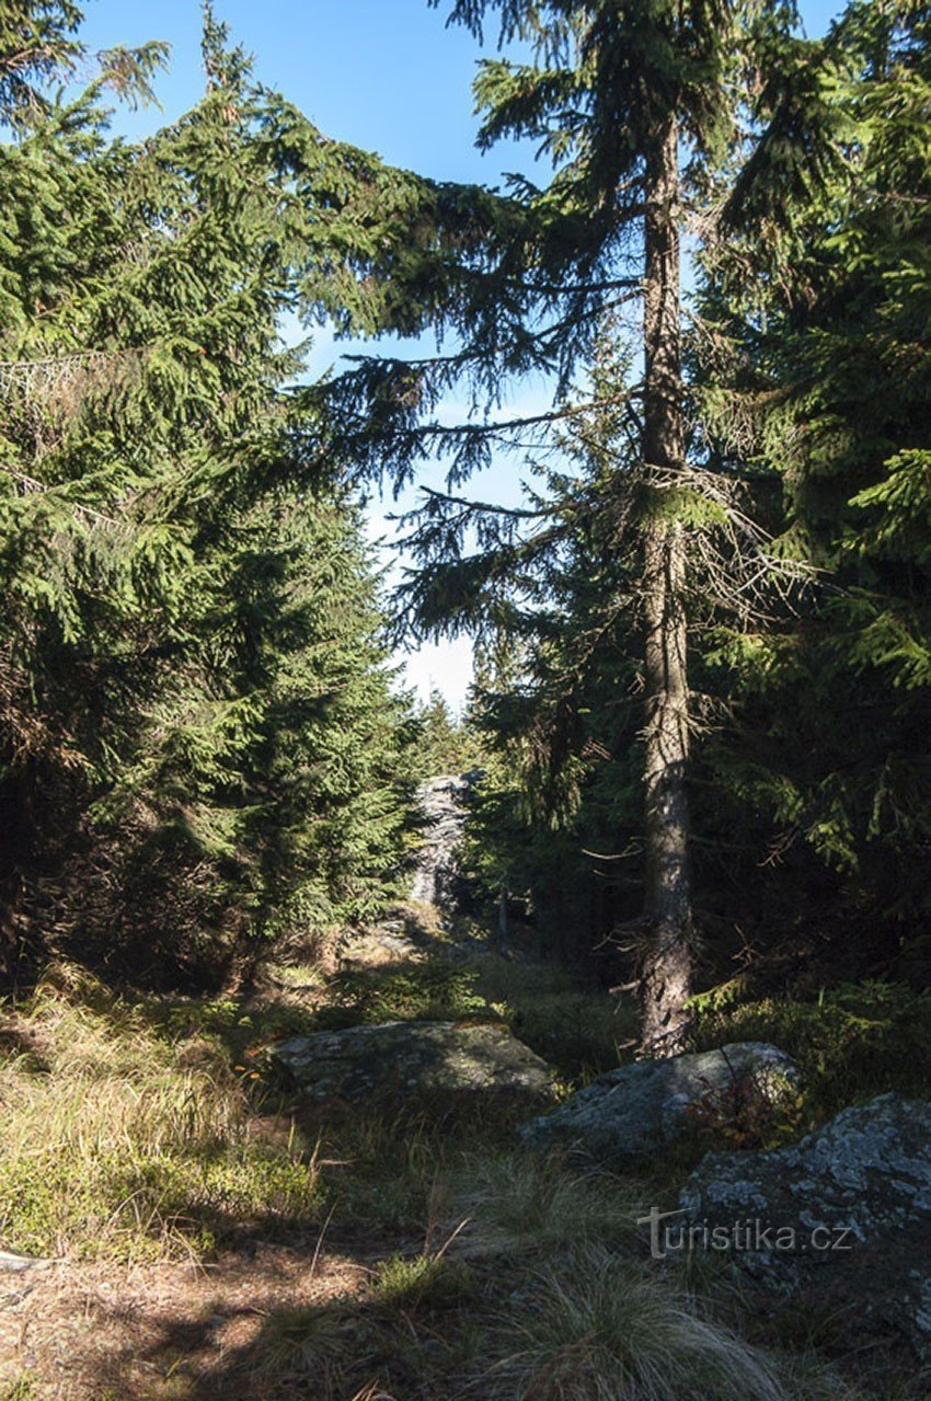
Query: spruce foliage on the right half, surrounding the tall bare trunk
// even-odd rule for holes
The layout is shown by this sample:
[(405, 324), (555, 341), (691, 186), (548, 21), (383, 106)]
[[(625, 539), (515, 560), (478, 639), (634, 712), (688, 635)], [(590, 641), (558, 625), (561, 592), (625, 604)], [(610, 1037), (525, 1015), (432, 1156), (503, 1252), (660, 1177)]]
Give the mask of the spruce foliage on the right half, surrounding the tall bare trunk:
[[(546, 191), (515, 191), (546, 228), (550, 287), (603, 297), (613, 258), (617, 294), (638, 255), (643, 143), (658, 112), (675, 112), (683, 134), (678, 198), (703, 283), (678, 388), (692, 471), (675, 490), (661, 502), (631, 492), (650, 385), (630, 373), (606, 384), (615, 328), (602, 303), (594, 342), (573, 340), (575, 301), (564, 343), (588, 378), (567, 402), (577, 432), (560, 429), (556, 444), (568, 475), (553, 489), (550, 469), (538, 509), (507, 525), (458, 499), (445, 518), (433, 502), (423, 516), (424, 555), (449, 563), (445, 593), (434, 569), (416, 598), (420, 616), (483, 621), (511, 639), (477, 705), (501, 762), (473, 821), (475, 869), (490, 898), (511, 891), (564, 954), (612, 933), (637, 943), (644, 583), (630, 527), (659, 506), (687, 551), (703, 976), (731, 972), (734, 955), (776, 962), (778, 946), (783, 969), (804, 969), (815, 947), (851, 976), (917, 955), (927, 10), (853, 4), (823, 42), (799, 38), (785, 7), (735, 7), (717, 27), (696, 13), (682, 32), (682, 11), (664, 4), (463, 3), (455, 15), (477, 28), (486, 10), (500, 11), (505, 42), (535, 48), (528, 66), (484, 66), (482, 140), (532, 136), (554, 161)], [(563, 224), (556, 254), (554, 212), (571, 207), (588, 220)]]

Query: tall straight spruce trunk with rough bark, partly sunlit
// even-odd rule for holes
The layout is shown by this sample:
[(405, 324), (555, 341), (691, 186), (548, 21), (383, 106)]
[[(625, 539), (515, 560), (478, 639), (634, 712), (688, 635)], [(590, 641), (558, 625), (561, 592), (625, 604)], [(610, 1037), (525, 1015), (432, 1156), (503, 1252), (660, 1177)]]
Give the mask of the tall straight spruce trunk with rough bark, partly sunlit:
[(679, 158), (675, 120), (647, 156), (644, 214), (644, 460), (652, 469), (644, 525), (647, 877), (640, 974), (641, 1049), (675, 1054), (689, 1021), (689, 678), (686, 542), (672, 488), (683, 465)]

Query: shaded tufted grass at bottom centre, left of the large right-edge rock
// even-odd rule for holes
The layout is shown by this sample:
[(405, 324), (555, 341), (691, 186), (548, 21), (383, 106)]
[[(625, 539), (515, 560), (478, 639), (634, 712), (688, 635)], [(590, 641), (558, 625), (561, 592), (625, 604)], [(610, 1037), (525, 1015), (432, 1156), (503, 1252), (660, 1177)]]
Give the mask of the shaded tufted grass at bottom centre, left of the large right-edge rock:
[(811, 1351), (753, 1342), (734, 1288), (645, 1261), (637, 1184), (470, 1147), (441, 1187), (423, 1250), (384, 1257), (354, 1297), (270, 1316), (259, 1369), (312, 1374), (321, 1401), (851, 1398)]

